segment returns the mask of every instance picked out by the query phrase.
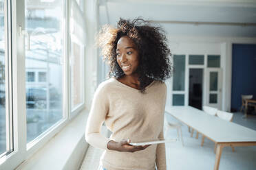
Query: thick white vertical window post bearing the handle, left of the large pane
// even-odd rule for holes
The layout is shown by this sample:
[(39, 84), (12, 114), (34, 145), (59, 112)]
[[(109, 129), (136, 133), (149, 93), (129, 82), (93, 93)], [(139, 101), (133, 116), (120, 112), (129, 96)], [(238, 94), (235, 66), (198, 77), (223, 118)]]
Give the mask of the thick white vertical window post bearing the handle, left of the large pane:
[(16, 0), (12, 4), (12, 113), (14, 151), (25, 158), (26, 111), (25, 111), (25, 3)]

